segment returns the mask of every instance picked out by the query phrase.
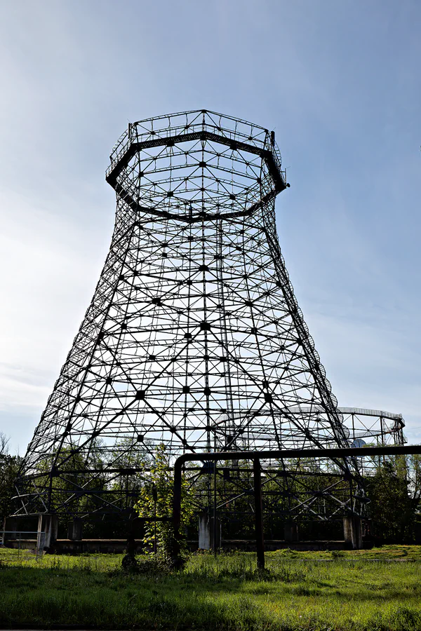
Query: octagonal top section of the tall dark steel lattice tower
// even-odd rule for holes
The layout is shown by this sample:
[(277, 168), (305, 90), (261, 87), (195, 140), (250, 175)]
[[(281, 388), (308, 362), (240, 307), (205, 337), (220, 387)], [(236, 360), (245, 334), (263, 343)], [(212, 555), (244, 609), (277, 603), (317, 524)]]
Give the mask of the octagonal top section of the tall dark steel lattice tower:
[(185, 222), (249, 215), (287, 186), (274, 132), (206, 109), (129, 123), (110, 160), (133, 210)]

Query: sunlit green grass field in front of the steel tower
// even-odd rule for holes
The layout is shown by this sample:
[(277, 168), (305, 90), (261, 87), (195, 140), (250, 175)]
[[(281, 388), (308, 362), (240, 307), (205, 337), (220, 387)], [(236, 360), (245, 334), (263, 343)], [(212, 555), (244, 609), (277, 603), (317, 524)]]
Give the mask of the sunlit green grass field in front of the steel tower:
[(421, 629), (421, 547), (192, 555), (174, 574), (122, 574), (121, 555), (0, 550), (0, 625), (102, 629), (382, 631)]

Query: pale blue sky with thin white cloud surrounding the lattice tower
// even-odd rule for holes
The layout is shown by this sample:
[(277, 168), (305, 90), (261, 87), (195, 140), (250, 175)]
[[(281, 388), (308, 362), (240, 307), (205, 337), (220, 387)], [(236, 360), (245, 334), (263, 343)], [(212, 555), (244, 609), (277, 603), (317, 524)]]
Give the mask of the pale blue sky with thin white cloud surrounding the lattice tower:
[(340, 405), (421, 440), (418, 0), (0, 0), (0, 431), (25, 452), (93, 294), (128, 121), (207, 108), (288, 168), (281, 248)]

